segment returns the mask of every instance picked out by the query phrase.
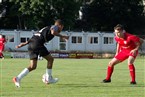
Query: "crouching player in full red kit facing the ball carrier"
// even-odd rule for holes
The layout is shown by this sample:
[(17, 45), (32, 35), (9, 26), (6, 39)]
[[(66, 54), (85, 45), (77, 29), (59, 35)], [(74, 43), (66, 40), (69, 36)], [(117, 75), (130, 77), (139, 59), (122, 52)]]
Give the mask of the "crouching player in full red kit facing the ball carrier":
[(136, 84), (134, 61), (138, 55), (138, 49), (143, 43), (143, 40), (135, 35), (127, 33), (124, 30), (124, 27), (120, 24), (114, 27), (114, 33), (115, 40), (117, 42), (116, 55), (108, 64), (107, 76), (103, 82), (111, 82), (111, 75), (113, 73), (114, 66), (128, 59), (128, 67), (131, 76), (130, 84)]

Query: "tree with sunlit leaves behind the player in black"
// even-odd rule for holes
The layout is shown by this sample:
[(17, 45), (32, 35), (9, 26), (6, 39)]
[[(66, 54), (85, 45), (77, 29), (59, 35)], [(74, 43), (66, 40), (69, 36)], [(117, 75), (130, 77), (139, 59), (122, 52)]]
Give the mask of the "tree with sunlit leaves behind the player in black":
[(52, 25), (55, 19), (64, 20), (65, 28), (73, 27), (81, 2), (79, 0), (11, 0), (19, 7), (24, 25), (41, 28)]

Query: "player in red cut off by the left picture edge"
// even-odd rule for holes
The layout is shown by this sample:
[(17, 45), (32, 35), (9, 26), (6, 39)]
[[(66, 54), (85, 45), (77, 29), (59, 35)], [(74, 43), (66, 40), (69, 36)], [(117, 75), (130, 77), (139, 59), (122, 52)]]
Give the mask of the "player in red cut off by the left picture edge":
[(5, 36), (0, 35), (0, 58), (4, 58), (4, 55), (2, 52), (4, 51), (4, 48), (5, 48), (5, 42), (6, 42)]

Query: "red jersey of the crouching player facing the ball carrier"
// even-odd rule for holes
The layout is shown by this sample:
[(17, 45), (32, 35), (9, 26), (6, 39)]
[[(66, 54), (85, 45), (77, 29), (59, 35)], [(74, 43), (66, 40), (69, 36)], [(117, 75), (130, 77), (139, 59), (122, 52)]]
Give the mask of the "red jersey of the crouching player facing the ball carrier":
[(119, 44), (120, 50), (133, 50), (134, 48), (136, 48), (135, 43), (140, 42), (139, 37), (126, 32), (124, 33), (124, 39), (115, 36), (115, 40)]

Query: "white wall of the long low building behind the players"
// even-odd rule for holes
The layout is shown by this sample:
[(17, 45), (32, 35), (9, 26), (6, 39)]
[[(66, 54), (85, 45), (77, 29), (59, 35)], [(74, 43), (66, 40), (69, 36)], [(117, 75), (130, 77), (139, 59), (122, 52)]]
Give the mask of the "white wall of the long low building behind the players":
[[(20, 43), (22, 37), (30, 38), (35, 33), (35, 31), (5, 31), (0, 30), (3, 35), (13, 35), (14, 42), (6, 43), (6, 50), (14, 51), (27, 51), (27, 46), (19, 49), (15, 49), (15, 46)], [(114, 37), (113, 33), (102, 33), (102, 32), (62, 32), (61, 34), (69, 35), (69, 40), (65, 42), (66, 51), (92, 51), (92, 52), (114, 52), (116, 49), (115, 41), (113, 44), (104, 44), (104, 37)], [(72, 43), (72, 37), (82, 37), (82, 43)], [(90, 44), (89, 37), (98, 37), (97, 44)], [(60, 39), (55, 37), (49, 43), (46, 43), (46, 47), (50, 51), (60, 50)]]

